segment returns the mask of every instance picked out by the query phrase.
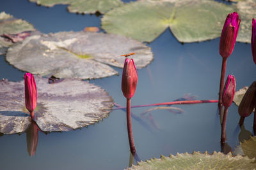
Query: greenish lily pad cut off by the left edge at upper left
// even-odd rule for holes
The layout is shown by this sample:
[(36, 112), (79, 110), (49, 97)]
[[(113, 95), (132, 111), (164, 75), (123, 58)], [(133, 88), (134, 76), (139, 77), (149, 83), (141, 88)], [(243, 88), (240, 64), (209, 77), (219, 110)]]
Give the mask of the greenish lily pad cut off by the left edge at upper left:
[(14, 18), (4, 11), (0, 13), (0, 48), (13, 44), (9, 39), (3, 38), (3, 34), (19, 34), (24, 31), (35, 31), (35, 28), (25, 20)]

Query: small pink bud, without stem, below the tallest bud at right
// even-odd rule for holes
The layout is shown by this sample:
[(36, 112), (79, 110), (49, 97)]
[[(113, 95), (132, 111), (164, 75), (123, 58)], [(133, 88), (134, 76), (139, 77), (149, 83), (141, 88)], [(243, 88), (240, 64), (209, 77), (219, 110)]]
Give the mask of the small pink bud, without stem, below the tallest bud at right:
[(232, 104), (236, 92), (236, 79), (232, 75), (228, 75), (222, 94), (223, 106), (229, 107)]

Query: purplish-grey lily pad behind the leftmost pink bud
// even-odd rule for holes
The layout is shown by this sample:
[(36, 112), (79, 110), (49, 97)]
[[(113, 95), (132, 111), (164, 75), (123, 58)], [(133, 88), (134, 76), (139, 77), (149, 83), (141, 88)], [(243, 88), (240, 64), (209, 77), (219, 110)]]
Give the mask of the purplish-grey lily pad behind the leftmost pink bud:
[[(48, 83), (35, 76), (37, 105), (35, 122), (42, 131), (71, 131), (108, 117), (113, 99), (87, 81), (65, 79)], [(30, 124), (24, 101), (24, 81), (0, 81), (0, 132), (24, 132)]]

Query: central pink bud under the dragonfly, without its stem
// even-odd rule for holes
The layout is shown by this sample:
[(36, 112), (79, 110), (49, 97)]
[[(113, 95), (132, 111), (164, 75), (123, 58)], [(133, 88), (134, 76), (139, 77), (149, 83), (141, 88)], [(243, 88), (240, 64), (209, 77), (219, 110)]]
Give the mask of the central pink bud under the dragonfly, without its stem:
[(138, 74), (133, 60), (125, 59), (122, 75), (122, 91), (124, 97), (131, 99), (135, 93), (138, 81)]

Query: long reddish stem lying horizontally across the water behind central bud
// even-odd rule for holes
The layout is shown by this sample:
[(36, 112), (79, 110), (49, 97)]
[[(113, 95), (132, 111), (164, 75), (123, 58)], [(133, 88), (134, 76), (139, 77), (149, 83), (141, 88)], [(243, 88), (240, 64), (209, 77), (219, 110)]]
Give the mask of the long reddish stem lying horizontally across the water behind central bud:
[[(200, 101), (171, 101), (166, 103), (155, 103), (155, 104), (143, 104), (137, 106), (131, 106), (131, 108), (140, 108), (140, 107), (148, 107), (148, 106), (161, 106), (161, 105), (172, 105), (172, 104), (198, 104), (198, 103), (218, 103), (218, 100), (200, 100)], [(113, 108), (113, 110), (121, 110), (125, 109), (124, 107)]]

